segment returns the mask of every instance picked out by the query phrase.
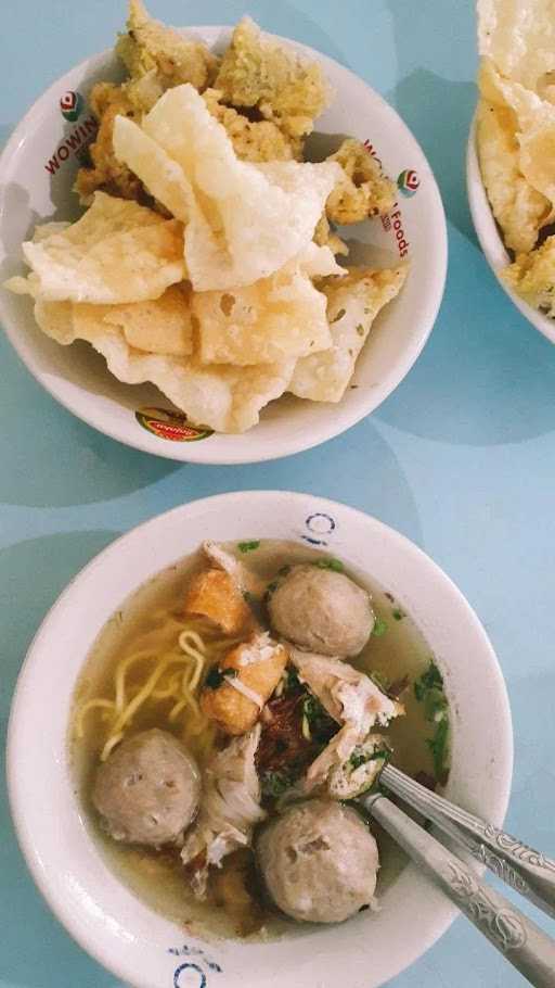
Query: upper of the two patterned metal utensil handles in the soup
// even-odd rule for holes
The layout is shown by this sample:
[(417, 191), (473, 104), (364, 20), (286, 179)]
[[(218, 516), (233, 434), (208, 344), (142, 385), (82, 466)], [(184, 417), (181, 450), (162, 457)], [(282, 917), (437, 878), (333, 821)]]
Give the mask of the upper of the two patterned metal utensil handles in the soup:
[(464, 847), (498, 878), (547, 915), (555, 916), (555, 861), (442, 796), (430, 793), (392, 765), (385, 767), (380, 782)]

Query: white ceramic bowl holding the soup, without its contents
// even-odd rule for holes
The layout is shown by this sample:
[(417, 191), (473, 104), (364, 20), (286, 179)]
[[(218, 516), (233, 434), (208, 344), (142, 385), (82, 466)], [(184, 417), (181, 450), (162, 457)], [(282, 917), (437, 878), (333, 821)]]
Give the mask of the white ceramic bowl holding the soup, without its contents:
[(266, 945), (207, 945), (151, 912), (119, 883), (75, 797), (67, 725), (94, 638), (141, 583), (208, 536), (318, 542), (388, 588), (416, 621), (444, 676), (453, 727), (448, 796), (502, 823), (512, 775), (511, 714), (492, 647), (461, 593), (421, 549), (360, 511), (308, 494), (247, 492), (183, 505), (124, 535), (82, 570), (46, 618), (21, 673), (9, 727), (10, 802), (23, 852), (72, 936), (138, 988), (375, 988), (424, 953), (456, 914), (414, 865), (387, 889), (376, 914), (336, 927), (299, 926), (294, 936)]

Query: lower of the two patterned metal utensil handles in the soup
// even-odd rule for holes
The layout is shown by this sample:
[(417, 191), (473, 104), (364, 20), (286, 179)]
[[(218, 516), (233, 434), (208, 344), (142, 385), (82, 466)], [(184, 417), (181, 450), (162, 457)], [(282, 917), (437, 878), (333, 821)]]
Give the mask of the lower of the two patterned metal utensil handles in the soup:
[(494, 892), (380, 793), (366, 809), (468, 920), (535, 988), (554, 988), (555, 940)]

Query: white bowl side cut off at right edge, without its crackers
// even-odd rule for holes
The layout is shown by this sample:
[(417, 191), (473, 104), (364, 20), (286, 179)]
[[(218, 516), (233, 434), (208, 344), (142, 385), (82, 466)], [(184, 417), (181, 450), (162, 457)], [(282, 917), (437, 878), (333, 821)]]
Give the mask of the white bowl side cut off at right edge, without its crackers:
[(503, 291), (508, 295), (511, 301), (522, 313), (525, 319), (528, 319), (535, 329), (539, 329), (547, 340), (555, 343), (555, 320), (544, 316), (543, 313), (532, 308), (516, 292), (513, 292), (508, 286), (500, 278), (500, 271), (511, 263), (511, 258), (505, 250), (505, 244), (501, 238), (500, 229), (491, 212), (491, 206), (481, 180), (480, 165), (478, 162), (478, 152), (476, 148), (476, 118), (473, 121), (470, 134), (468, 137), (468, 148), (466, 152), (466, 186), (468, 191), (468, 203), (473, 217), (476, 236), (480, 246), (486, 255), (491, 270), (495, 275)]

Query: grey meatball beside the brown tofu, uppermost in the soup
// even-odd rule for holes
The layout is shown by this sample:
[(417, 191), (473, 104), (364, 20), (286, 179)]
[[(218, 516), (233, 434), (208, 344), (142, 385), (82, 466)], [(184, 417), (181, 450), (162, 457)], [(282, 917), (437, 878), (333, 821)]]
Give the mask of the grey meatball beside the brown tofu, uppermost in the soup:
[(374, 626), (367, 593), (334, 570), (294, 566), (270, 597), (274, 631), (320, 655), (349, 658), (364, 648)]

